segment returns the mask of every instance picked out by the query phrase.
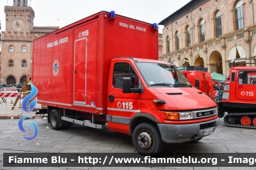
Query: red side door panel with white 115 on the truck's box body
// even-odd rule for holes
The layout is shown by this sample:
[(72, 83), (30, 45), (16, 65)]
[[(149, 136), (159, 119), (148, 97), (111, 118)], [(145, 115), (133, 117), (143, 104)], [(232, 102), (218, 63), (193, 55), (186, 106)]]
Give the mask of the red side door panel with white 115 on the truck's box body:
[(95, 107), (97, 20), (74, 28), (73, 105)]

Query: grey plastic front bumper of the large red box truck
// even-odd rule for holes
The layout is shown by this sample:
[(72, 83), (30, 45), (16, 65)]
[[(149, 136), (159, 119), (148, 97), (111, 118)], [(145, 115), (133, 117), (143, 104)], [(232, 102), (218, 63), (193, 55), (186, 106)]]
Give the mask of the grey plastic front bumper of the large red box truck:
[(219, 118), (211, 121), (186, 125), (157, 123), (164, 143), (183, 143), (187, 141), (193, 141), (193, 136), (196, 139), (205, 137), (206, 130), (212, 130), (213, 133), (218, 125), (220, 125)]

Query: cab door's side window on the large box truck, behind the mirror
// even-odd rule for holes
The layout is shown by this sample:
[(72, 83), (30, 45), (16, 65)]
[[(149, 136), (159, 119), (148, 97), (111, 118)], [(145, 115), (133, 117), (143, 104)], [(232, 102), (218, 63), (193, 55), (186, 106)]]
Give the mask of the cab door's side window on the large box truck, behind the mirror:
[(124, 77), (131, 78), (131, 88), (139, 88), (141, 86), (138, 75), (129, 63), (116, 63), (113, 73), (113, 87), (122, 89)]

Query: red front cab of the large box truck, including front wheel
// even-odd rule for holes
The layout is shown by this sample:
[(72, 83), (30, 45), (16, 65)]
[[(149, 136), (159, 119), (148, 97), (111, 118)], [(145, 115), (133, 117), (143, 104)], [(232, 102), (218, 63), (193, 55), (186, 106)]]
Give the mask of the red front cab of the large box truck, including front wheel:
[(176, 66), (140, 58), (112, 59), (106, 120), (110, 130), (132, 135), (141, 153), (163, 143), (198, 141), (220, 123), (215, 102)]

